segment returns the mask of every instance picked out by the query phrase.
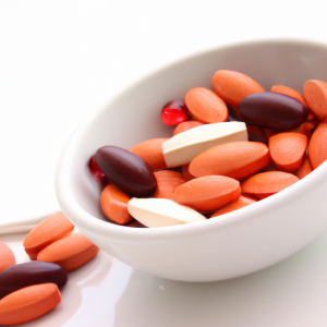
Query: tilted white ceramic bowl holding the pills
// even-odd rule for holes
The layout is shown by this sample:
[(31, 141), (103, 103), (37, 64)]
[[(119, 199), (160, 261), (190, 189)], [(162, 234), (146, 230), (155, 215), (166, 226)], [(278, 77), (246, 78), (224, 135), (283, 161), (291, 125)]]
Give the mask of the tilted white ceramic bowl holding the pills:
[(94, 111), (62, 152), (56, 177), (59, 204), (96, 245), (149, 274), (184, 281), (233, 278), (268, 267), (313, 241), (327, 226), (327, 164), (280, 193), (206, 221), (137, 229), (110, 223), (86, 162), (104, 145), (130, 148), (171, 136), (162, 105), (195, 86), (211, 87), (217, 70), (240, 71), (262, 84), (302, 92), (307, 80), (327, 81), (327, 46), (296, 40), (246, 43), (205, 51), (135, 83)]

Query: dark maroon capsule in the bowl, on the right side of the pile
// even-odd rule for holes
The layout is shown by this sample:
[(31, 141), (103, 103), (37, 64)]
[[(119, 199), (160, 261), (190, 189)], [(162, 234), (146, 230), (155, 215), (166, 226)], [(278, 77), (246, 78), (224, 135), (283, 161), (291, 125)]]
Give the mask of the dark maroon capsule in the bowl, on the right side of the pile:
[(300, 126), (306, 119), (307, 111), (292, 97), (275, 92), (262, 92), (241, 101), (240, 116), (246, 123), (283, 131)]

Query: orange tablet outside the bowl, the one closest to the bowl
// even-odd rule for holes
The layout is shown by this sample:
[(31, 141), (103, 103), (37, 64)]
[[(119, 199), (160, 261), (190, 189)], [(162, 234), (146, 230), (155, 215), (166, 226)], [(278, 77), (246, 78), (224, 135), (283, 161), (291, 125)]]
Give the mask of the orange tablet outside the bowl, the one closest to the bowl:
[(45, 247), (38, 254), (37, 261), (55, 263), (66, 271), (72, 271), (88, 263), (98, 251), (98, 246), (82, 233), (76, 233)]

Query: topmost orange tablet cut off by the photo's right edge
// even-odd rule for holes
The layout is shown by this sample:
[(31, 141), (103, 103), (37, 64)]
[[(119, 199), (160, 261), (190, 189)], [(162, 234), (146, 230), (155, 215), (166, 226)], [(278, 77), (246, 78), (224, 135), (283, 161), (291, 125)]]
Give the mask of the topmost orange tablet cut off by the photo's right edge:
[(327, 118), (327, 83), (318, 80), (307, 81), (303, 85), (304, 98), (319, 120)]

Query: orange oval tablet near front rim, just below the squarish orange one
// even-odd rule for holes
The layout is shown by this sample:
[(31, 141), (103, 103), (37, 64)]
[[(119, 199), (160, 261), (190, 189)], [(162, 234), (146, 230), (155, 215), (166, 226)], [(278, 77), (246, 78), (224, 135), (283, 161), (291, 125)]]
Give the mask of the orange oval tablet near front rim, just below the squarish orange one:
[(299, 179), (289, 172), (266, 171), (252, 175), (242, 183), (242, 191), (247, 194), (275, 194), (298, 182)]

